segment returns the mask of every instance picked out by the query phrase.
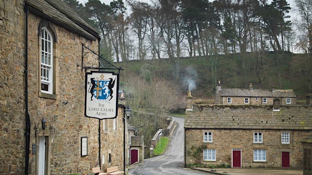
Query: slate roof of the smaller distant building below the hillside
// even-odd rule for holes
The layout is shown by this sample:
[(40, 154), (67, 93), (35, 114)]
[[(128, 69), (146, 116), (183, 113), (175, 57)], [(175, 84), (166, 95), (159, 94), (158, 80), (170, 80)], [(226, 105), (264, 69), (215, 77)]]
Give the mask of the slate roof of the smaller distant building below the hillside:
[(218, 93), (221, 96), (239, 96), (239, 97), (296, 97), (292, 89), (239, 89), (239, 88), (223, 88)]

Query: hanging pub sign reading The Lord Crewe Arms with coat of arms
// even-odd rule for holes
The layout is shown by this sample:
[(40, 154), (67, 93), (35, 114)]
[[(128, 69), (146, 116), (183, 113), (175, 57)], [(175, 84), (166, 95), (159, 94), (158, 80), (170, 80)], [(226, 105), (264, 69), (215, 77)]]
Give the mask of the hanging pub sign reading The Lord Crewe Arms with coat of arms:
[(118, 114), (119, 74), (115, 72), (86, 72), (85, 107), (86, 117), (113, 119)]

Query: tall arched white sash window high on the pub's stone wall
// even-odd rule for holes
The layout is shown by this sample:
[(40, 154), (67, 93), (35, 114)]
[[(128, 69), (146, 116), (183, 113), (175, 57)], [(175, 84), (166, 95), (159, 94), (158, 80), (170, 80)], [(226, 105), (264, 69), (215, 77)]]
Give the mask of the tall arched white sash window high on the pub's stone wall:
[(41, 73), (41, 92), (53, 93), (53, 37), (51, 32), (43, 27), (40, 39), (40, 73)]

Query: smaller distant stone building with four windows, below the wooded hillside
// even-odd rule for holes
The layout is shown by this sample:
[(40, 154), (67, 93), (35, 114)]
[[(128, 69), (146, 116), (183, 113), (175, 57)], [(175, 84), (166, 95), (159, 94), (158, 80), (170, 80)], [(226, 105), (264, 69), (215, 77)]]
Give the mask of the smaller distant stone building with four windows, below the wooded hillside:
[(216, 86), (215, 105), (273, 105), (273, 99), (280, 99), (281, 105), (295, 105), (296, 96), (292, 89), (249, 89), (221, 88)]

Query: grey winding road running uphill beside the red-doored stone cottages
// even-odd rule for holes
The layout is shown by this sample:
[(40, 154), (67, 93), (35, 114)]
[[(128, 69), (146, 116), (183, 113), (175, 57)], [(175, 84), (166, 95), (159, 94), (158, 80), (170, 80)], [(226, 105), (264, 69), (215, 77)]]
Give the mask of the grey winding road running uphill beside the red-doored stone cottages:
[(162, 156), (145, 159), (129, 170), (129, 175), (209, 175), (190, 169), (183, 169), (184, 154), (184, 118), (173, 117), (176, 129)]

